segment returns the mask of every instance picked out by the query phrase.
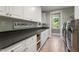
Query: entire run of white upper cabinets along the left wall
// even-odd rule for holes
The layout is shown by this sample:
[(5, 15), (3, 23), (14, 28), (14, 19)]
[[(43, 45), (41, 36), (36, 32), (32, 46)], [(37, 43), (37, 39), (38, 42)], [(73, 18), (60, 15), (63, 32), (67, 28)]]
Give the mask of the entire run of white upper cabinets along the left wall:
[(40, 6), (0, 6), (0, 15), (41, 22)]

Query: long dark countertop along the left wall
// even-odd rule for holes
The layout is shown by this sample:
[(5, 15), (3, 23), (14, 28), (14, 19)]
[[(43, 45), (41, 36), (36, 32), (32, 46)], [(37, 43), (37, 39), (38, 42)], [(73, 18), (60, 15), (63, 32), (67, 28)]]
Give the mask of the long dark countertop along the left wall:
[(15, 31), (0, 32), (0, 49), (9, 47), (19, 41), (27, 39), (36, 33), (41, 33), (42, 31), (48, 29), (48, 27), (39, 27)]

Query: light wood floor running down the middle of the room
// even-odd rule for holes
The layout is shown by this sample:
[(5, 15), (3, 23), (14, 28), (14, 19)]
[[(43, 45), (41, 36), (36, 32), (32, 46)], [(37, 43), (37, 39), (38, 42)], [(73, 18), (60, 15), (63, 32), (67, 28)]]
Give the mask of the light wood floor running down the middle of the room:
[(64, 42), (58, 36), (49, 38), (40, 52), (65, 52)]

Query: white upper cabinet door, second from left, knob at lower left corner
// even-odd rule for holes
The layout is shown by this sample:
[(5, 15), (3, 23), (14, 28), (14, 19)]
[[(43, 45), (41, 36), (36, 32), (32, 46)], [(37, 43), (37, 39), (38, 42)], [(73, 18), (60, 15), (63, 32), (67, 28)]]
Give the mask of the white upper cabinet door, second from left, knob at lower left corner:
[(23, 6), (9, 6), (9, 13), (12, 17), (23, 18)]

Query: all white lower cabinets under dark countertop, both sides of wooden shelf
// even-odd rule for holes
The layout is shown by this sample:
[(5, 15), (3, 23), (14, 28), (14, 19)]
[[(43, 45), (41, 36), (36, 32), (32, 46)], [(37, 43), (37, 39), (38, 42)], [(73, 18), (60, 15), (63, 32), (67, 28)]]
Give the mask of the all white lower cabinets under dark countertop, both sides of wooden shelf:
[[(49, 30), (41, 32), (41, 47), (49, 36)], [(10, 47), (2, 49), (1, 52), (37, 52), (37, 36), (31, 36), (21, 42)]]

